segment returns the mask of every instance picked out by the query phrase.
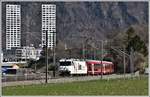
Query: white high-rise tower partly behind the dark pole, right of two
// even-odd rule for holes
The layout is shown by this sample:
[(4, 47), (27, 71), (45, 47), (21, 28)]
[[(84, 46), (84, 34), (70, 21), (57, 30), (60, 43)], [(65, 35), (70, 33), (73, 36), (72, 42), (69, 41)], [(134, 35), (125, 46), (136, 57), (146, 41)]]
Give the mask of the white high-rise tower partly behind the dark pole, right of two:
[(48, 33), (48, 47), (53, 49), (56, 43), (56, 5), (42, 4), (42, 46), (46, 45)]

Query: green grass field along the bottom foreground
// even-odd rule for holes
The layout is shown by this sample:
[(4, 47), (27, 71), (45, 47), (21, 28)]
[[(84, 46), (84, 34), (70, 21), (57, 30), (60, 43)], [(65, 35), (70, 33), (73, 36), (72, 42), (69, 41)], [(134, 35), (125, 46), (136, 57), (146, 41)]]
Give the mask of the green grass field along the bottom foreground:
[(148, 95), (148, 77), (13, 86), (3, 95)]

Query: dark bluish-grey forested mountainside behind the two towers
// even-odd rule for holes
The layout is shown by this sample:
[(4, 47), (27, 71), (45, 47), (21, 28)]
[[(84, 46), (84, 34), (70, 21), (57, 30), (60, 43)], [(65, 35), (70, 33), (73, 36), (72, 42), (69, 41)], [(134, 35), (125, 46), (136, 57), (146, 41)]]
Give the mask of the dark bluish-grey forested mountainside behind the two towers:
[[(2, 4), (3, 36), (5, 36), (5, 4), (7, 3)], [(22, 45), (35, 44), (38, 47), (41, 42), (39, 39), (41, 38), (41, 4), (43, 3), (15, 3), (21, 4)], [(101, 40), (108, 38), (108, 34), (124, 32), (131, 25), (136, 25), (138, 29), (146, 26), (139, 33), (145, 34), (148, 38), (148, 32), (145, 32), (148, 31), (148, 2), (53, 3), (57, 5), (58, 42), (72, 41), (73, 45), (77, 45), (82, 40), (81, 36)], [(3, 37), (4, 47), (5, 38)]]

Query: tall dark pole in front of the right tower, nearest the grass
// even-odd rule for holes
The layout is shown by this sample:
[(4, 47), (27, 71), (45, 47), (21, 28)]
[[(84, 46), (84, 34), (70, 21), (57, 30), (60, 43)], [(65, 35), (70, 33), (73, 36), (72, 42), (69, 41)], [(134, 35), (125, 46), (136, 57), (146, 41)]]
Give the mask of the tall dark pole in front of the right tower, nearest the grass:
[(46, 33), (46, 45), (45, 45), (45, 63), (46, 63), (46, 77), (45, 77), (45, 83), (48, 83), (48, 31), (45, 31)]

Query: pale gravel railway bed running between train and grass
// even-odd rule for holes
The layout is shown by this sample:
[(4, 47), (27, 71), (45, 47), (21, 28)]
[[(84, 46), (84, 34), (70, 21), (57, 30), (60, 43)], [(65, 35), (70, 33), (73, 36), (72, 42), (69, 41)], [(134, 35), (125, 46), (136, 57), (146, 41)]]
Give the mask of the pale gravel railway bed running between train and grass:
[[(59, 78), (49, 78), (48, 83), (66, 83), (66, 82), (76, 82), (76, 81), (90, 81), (90, 80), (98, 80), (98, 79), (117, 79), (117, 78), (130, 78), (136, 77), (138, 75), (104, 75), (102, 78), (101, 76), (73, 76), (73, 77), (59, 77)], [(33, 85), (33, 84), (45, 84), (45, 80), (26, 80), (26, 81), (14, 81), (14, 82), (2, 82), (2, 87), (6, 86), (17, 86), (17, 85)]]

